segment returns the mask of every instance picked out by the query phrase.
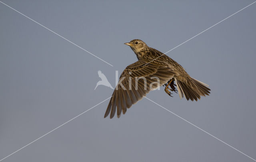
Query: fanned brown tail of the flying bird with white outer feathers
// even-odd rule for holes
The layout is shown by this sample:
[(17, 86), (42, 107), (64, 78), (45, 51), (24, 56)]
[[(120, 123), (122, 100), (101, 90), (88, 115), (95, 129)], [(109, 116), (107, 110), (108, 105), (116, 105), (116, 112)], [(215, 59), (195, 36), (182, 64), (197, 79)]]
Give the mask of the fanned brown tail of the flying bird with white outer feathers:
[(180, 99), (184, 96), (187, 100), (198, 100), (201, 96), (209, 95), (210, 89), (208, 88), (209, 85), (198, 81), (192, 77), (187, 80), (187, 83), (179, 81), (178, 79), (174, 78), (176, 82), (177, 89), (179, 91)]

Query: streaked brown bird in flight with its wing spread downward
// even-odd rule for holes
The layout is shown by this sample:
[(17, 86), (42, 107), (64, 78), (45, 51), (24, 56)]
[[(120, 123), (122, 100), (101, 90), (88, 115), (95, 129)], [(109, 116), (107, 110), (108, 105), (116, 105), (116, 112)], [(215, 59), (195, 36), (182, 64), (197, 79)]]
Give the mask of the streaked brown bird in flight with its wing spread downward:
[[(128, 65), (120, 75), (104, 118), (110, 114), (112, 119), (115, 113), (119, 118), (121, 113), (125, 114), (128, 108), (145, 97), (149, 91), (160, 86), (165, 86), (164, 91), (171, 97), (172, 92), (178, 91), (180, 99), (185, 97), (191, 101), (198, 101), (201, 96), (210, 94), (209, 85), (190, 77), (179, 63), (148, 47), (144, 41), (135, 39), (124, 44), (130, 46), (138, 61)], [(152, 85), (156, 81), (158, 84)]]

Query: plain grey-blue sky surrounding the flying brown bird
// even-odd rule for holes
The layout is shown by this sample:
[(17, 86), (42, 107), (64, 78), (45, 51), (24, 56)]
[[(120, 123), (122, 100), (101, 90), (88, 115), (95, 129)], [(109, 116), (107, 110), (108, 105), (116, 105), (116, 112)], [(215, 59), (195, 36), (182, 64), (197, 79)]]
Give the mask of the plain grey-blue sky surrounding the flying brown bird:
[[(0, 159), (112, 95), (115, 71), (137, 58), (123, 43), (141, 39), (166, 52), (254, 2), (2, 0), (110, 65), (0, 3)], [(210, 85), (198, 102), (147, 97), (256, 158), (256, 4), (170, 51), (190, 76)], [(109, 101), (109, 100), (108, 100)], [(253, 160), (142, 99), (120, 119), (108, 101), (3, 162)]]

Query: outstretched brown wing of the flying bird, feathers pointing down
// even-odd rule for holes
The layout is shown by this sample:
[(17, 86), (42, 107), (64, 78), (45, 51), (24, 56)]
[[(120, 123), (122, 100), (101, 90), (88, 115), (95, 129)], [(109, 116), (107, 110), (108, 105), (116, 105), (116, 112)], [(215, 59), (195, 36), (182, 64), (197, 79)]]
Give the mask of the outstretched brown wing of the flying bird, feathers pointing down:
[[(119, 118), (121, 112), (125, 114), (127, 108), (141, 100), (149, 91), (168, 82), (175, 74), (172, 68), (165, 65), (160, 65), (156, 62), (146, 63), (146, 61), (140, 59), (124, 69), (110, 99), (104, 118), (108, 116), (110, 110), (110, 119), (113, 118), (116, 107), (117, 117)], [(139, 79), (140, 77), (143, 77), (146, 83), (144, 79)], [(159, 79), (160, 85), (155, 84), (158, 81), (156, 78)], [(138, 86), (136, 86), (136, 81)]]

